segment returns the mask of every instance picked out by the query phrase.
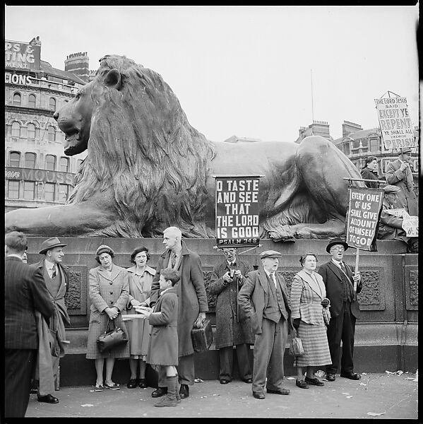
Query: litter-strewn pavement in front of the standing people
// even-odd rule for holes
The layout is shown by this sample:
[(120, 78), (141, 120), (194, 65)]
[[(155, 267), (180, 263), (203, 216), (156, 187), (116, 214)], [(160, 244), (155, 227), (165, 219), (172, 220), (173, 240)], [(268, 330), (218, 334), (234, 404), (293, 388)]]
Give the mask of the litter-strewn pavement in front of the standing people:
[[(362, 374), (354, 381), (337, 375), (324, 387), (295, 386), (295, 377), (285, 377), (290, 395), (252, 396), (251, 384), (233, 380), (222, 385), (218, 380), (197, 382), (189, 387), (189, 397), (175, 407), (157, 408), (152, 387), (94, 391), (93, 387), (63, 387), (54, 392), (59, 404), (43, 404), (30, 395), (25, 418), (418, 418), (418, 382), (415, 374)], [(417, 376), (418, 379), (418, 376)], [(7, 423), (7, 420), (6, 420)]]

